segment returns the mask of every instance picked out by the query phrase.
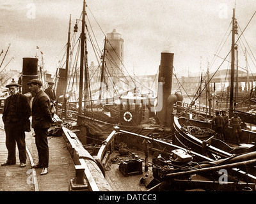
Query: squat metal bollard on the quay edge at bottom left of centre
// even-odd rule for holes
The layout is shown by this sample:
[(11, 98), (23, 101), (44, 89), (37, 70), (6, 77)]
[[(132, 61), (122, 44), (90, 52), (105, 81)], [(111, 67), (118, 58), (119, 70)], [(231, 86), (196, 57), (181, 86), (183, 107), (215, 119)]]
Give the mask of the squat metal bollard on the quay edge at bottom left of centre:
[(75, 165), (76, 178), (69, 182), (69, 191), (89, 191), (88, 183), (84, 179), (84, 167), (82, 165)]

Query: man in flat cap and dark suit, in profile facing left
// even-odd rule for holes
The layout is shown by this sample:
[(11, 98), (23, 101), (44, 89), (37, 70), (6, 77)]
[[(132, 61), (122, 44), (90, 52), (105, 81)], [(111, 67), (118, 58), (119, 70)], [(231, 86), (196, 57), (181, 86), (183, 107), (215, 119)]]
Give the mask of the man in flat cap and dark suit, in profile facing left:
[(48, 129), (51, 127), (51, 100), (42, 90), (42, 82), (32, 79), (28, 82), (29, 90), (35, 93), (32, 103), (32, 128), (35, 131), (35, 142), (38, 151), (38, 164), (32, 168), (43, 168), (41, 175), (45, 175), (49, 165), (49, 147), (47, 141)]

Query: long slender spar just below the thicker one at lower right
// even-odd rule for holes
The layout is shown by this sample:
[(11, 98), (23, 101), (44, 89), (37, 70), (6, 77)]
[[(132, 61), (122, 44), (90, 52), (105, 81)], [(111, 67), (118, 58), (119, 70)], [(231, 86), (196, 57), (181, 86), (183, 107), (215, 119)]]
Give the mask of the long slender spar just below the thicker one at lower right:
[(238, 168), (240, 166), (252, 166), (254, 164), (256, 164), (256, 159), (252, 159), (249, 161), (241, 161), (241, 162), (232, 163), (232, 164), (224, 164), (224, 165), (208, 167), (208, 168), (200, 168), (198, 170), (189, 170), (189, 171), (168, 173), (166, 175), (166, 177), (171, 178), (171, 177), (177, 177), (177, 176), (192, 175), (195, 173), (205, 173), (208, 171), (217, 171), (217, 170), (221, 170), (221, 169), (227, 170), (228, 168)]

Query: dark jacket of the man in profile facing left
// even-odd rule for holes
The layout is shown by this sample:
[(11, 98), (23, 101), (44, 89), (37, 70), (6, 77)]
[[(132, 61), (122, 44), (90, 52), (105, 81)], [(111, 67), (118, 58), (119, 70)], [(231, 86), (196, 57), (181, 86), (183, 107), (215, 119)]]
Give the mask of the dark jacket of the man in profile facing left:
[(36, 93), (32, 103), (32, 128), (50, 128), (51, 100), (43, 90)]

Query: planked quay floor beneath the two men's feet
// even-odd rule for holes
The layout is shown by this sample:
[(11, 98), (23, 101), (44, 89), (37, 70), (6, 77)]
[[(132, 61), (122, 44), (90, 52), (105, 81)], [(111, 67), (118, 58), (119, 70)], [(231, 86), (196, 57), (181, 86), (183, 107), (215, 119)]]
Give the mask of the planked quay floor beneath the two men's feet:
[[(0, 122), (0, 164), (7, 159), (8, 151), (5, 145), (3, 122)], [(48, 137), (49, 168), (47, 175), (41, 176), (42, 169), (36, 169), (39, 191), (68, 191), (70, 179), (75, 177), (74, 162), (67, 150), (67, 144), (62, 136)], [(38, 153), (33, 136), (33, 128), (26, 133), (26, 146), (31, 152), (33, 162), (38, 163)], [(34, 191), (32, 169), (27, 155), (27, 166), (19, 167), (19, 153), (16, 151), (17, 163), (12, 166), (0, 166), (0, 191)]]

